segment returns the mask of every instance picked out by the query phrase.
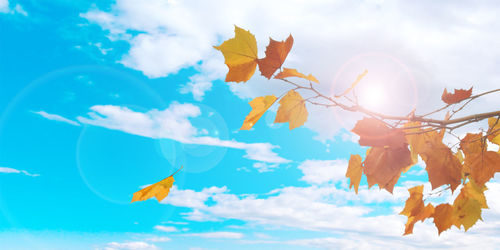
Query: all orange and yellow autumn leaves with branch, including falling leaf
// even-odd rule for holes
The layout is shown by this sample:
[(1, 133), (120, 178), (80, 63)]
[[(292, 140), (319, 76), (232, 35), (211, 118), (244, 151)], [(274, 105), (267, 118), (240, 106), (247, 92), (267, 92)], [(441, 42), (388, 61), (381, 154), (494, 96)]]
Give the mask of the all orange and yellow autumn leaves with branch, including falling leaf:
[[(291, 35), (285, 41), (270, 39), (265, 57), (258, 58), (254, 35), (237, 26), (234, 38), (214, 46), (222, 53), (229, 68), (226, 82), (246, 82), (258, 67), (264, 77), (284, 81), (292, 87), (286, 93), (261, 96), (250, 101), (252, 110), (240, 129), (251, 129), (272, 105), (278, 105), (274, 122), (288, 123), (290, 129), (300, 127), (307, 121), (309, 113), (306, 104), (365, 114), (366, 117), (356, 123), (352, 132), (359, 135), (361, 146), (369, 148), (364, 159), (360, 155), (351, 155), (349, 159), (346, 177), (350, 179), (350, 188), (354, 187), (357, 193), (364, 174), (369, 187), (378, 185), (392, 193), (401, 174), (421, 159), (433, 190), (444, 192), (449, 189), (459, 194), (451, 204), (426, 204), (423, 185), (408, 189), (409, 198), (400, 213), (408, 218), (404, 234), (411, 234), (415, 223), (431, 218), (439, 234), (452, 226), (463, 226), (467, 231), (477, 220), (482, 220), (481, 211), (488, 208), (484, 196), (485, 184), (496, 172), (500, 172), (499, 152), (487, 150), (488, 143), (500, 145), (500, 113), (489, 112), (456, 119), (452, 117), (470, 101), (494, 91), (473, 96), (472, 88), (455, 89), (453, 93), (445, 89), (441, 98), (444, 106), (436, 111), (425, 115), (416, 115), (413, 111), (407, 116), (388, 116), (361, 107), (353, 101), (355, 98), (347, 98), (347, 95), (354, 95), (353, 90), (367, 71), (361, 73), (343, 93), (324, 95), (314, 88), (314, 84), (320, 83), (314, 76), (283, 67), (292, 46)], [(293, 81), (296, 79), (300, 82)], [(304, 98), (302, 92), (309, 92), (312, 97)], [(346, 99), (348, 103), (344, 102)], [(448, 113), (443, 120), (427, 118), (453, 105), (462, 106)], [(445, 133), (451, 134), (453, 129), (482, 119), (488, 119), (489, 128), (486, 132), (468, 133), (460, 139), (458, 147), (443, 142)], [(161, 200), (168, 194), (172, 183), (173, 177), (168, 177), (146, 188), (148, 190), (143, 189), (134, 194), (133, 201), (153, 196)]]

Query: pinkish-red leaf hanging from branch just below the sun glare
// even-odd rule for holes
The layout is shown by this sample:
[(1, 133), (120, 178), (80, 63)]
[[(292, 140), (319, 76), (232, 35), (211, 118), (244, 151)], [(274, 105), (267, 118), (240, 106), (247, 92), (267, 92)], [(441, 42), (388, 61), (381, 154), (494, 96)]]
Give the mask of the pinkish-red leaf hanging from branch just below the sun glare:
[(385, 123), (375, 118), (363, 118), (351, 131), (359, 135), (361, 146), (398, 148), (407, 145), (403, 130), (388, 128)]

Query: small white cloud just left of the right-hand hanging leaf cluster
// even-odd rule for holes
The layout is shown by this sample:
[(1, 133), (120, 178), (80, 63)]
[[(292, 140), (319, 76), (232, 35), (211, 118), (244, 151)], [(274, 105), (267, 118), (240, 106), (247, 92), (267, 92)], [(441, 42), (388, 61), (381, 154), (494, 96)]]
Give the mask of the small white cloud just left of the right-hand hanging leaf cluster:
[(322, 184), (345, 179), (347, 161), (345, 160), (307, 160), (298, 167), (304, 176), (301, 180), (311, 184)]

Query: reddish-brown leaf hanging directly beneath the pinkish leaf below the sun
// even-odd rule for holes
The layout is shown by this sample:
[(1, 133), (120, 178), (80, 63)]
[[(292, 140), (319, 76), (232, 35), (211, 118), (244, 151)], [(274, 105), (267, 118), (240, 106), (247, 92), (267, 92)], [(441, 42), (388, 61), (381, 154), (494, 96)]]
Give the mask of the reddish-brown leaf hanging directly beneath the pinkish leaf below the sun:
[(373, 147), (367, 152), (363, 172), (369, 187), (378, 184), (392, 193), (401, 172), (410, 164), (408, 148)]

